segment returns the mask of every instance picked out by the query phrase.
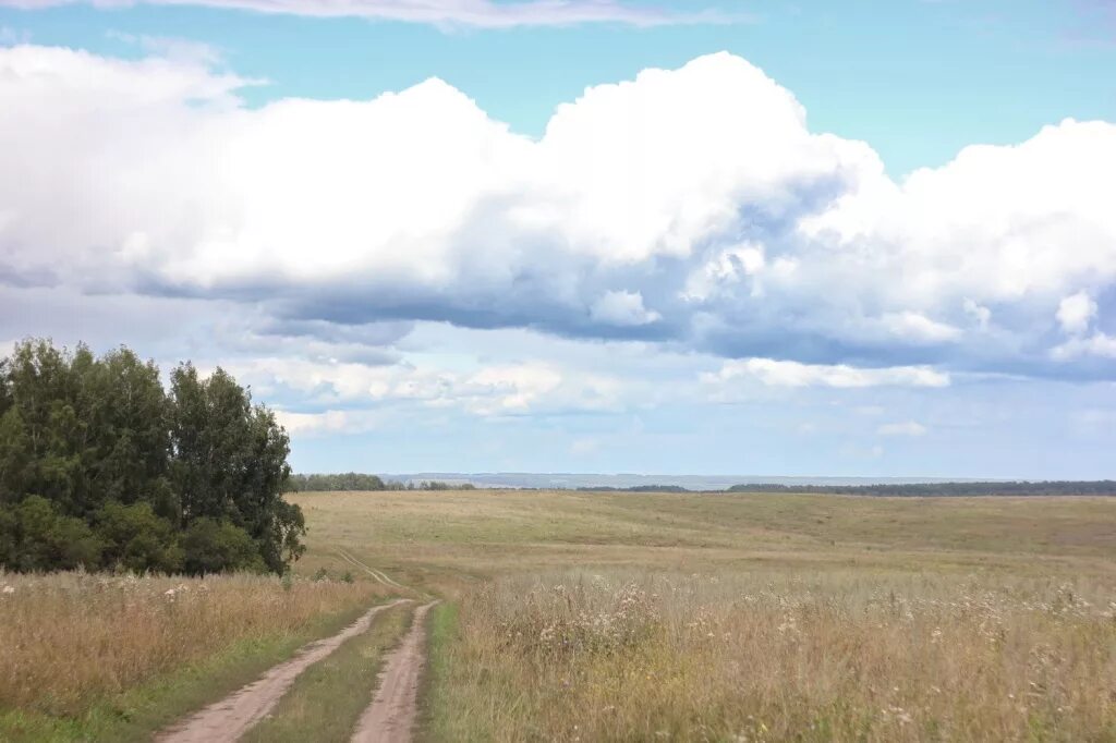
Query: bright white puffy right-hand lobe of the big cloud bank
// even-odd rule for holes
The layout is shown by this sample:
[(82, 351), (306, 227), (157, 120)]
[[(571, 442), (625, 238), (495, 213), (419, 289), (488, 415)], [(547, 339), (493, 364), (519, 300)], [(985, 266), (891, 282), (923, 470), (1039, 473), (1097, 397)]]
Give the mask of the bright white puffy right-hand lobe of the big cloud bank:
[(1051, 298), (1116, 277), (1114, 162), (1116, 125), (1067, 119), (1017, 146), (966, 147), (902, 185), (862, 182), (804, 231), (903, 276), (882, 293), (913, 306)]

